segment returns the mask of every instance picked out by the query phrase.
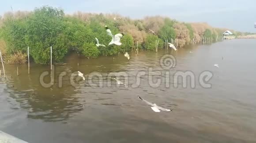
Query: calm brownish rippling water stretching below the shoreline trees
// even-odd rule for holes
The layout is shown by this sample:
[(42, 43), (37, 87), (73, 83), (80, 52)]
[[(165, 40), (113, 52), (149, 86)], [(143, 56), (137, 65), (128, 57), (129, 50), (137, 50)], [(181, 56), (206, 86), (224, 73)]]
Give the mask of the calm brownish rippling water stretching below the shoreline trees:
[[(147, 73), (138, 87), (131, 87), (139, 71), (162, 70), (159, 59), (165, 54), (177, 59), (176, 67), (169, 70), (170, 81), (151, 87), (148, 75), (155, 80), (166, 75)], [(50, 88), (39, 82), (41, 73), (49, 71), (48, 65), (32, 64), (30, 75), (27, 65), (18, 65), (19, 76), (17, 65), (6, 65), (8, 78), (0, 81), (0, 130), (30, 143), (255, 143), (255, 55), (256, 40), (252, 39), (177, 52), (141, 51), (132, 53), (129, 61), (123, 55), (89, 60), (71, 55), (55, 64)], [(70, 76), (77, 70), (87, 80), (73, 87)], [(177, 71), (192, 71), (196, 88), (183, 88), (182, 81), (174, 80)], [(203, 71), (214, 74), (210, 89), (198, 82)], [(61, 72), (67, 75), (59, 88)], [(92, 81), (102, 82), (103, 87), (90, 86), (91, 72), (102, 74), (102, 79)], [(113, 72), (126, 72), (130, 85), (116, 86), (112, 81), (107, 86), (108, 74)], [(48, 81), (49, 76), (45, 77)], [(174, 83), (179, 83), (178, 88)], [(174, 111), (154, 113), (137, 95)]]

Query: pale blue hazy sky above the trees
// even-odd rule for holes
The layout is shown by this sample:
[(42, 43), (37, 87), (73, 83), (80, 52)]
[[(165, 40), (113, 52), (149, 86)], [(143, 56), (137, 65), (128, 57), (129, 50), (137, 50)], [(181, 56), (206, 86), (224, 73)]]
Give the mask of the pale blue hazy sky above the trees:
[(130, 18), (162, 15), (184, 22), (207, 22), (213, 27), (256, 32), (256, 0), (2, 0), (0, 15), (33, 11), (35, 7), (60, 7), (76, 11), (118, 13)]

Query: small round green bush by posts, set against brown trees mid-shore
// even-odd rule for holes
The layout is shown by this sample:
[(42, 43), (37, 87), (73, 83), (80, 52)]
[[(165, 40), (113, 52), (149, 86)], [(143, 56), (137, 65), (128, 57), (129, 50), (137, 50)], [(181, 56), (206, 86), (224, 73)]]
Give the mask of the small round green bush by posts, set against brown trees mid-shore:
[(156, 46), (156, 40), (159, 40), (158, 47), (163, 46), (163, 41), (161, 39), (158, 39), (158, 36), (148, 34), (145, 42), (145, 49), (146, 50), (155, 50)]

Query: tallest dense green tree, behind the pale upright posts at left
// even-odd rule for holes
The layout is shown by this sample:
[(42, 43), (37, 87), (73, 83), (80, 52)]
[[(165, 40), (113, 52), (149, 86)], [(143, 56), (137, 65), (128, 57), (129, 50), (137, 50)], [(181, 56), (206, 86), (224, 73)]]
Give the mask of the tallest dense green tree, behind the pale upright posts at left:
[(27, 43), (36, 63), (47, 64), (50, 60), (50, 46), (53, 46), (53, 60), (60, 61), (68, 52), (68, 36), (64, 34), (64, 12), (52, 7), (41, 7), (28, 20)]

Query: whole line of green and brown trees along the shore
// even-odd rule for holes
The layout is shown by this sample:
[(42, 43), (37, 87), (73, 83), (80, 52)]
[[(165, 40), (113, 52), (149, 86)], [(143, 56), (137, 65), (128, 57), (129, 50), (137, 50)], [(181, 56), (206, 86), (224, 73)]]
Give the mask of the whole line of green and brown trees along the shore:
[[(104, 25), (113, 34), (124, 32), (121, 46), (95, 45), (95, 37), (105, 45), (111, 41)], [(7, 12), (0, 17), (0, 50), (4, 51), (2, 53), (10, 63), (24, 63), (29, 46), (30, 56), (35, 63), (48, 64), (50, 46), (53, 47), (53, 60), (58, 62), (68, 52), (76, 52), (88, 58), (124, 53), (137, 46), (137, 42), (140, 49), (154, 50), (156, 40), (159, 41), (158, 47), (164, 47), (166, 39), (178, 39), (179, 47), (191, 44), (192, 41), (199, 43), (202, 37), (216, 41), (226, 30), (213, 28), (207, 23), (184, 23), (160, 16), (132, 20), (119, 14), (79, 11), (64, 14), (62, 9), (43, 6), (34, 11)], [(230, 31), (235, 35), (242, 34)]]

